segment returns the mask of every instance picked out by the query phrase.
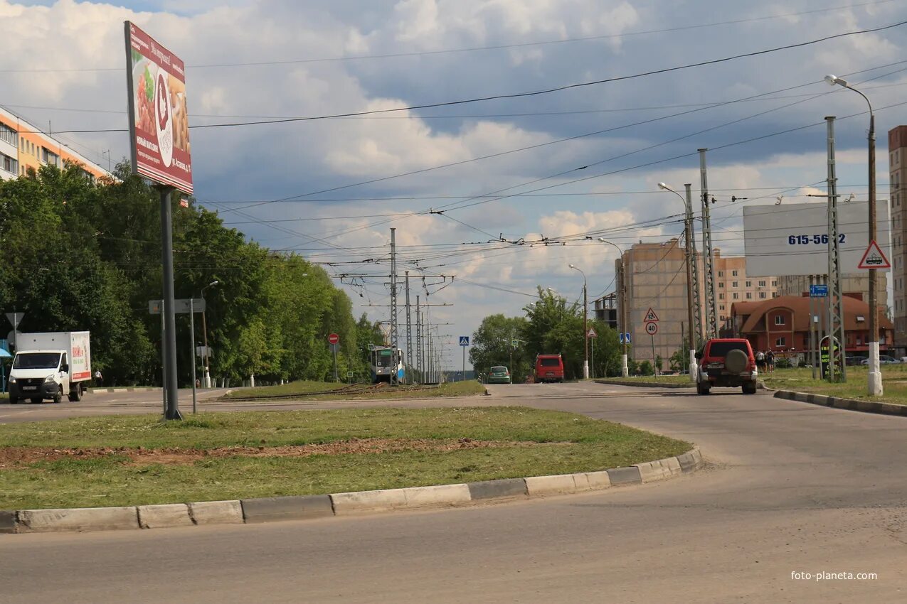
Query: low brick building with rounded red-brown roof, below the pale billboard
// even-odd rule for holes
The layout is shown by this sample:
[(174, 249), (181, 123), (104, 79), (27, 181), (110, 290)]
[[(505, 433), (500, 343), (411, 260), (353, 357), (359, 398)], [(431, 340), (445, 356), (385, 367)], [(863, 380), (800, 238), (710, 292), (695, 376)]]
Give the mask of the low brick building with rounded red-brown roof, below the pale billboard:
[[(763, 302), (736, 302), (731, 306), (730, 321), (725, 334), (749, 340), (753, 350), (798, 353), (809, 349), (809, 298), (806, 296), (779, 296)], [(826, 298), (817, 298), (825, 302)], [(869, 304), (851, 296), (844, 296), (844, 350), (847, 355), (869, 354), (868, 315)], [(828, 324), (828, 309), (823, 304), (821, 312), (824, 325)], [(879, 311), (879, 350), (893, 346), (893, 324), (884, 312)]]

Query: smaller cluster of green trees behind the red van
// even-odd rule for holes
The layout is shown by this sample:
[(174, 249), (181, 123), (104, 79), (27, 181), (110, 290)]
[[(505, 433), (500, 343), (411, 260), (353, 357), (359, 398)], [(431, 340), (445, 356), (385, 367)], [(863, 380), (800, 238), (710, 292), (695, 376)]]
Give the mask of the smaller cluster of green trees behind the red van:
[[(473, 347), (469, 351), (469, 360), (477, 372), (482, 374), (494, 365), (506, 365), (514, 382), (524, 381), (532, 375), (535, 355), (561, 353), (565, 378), (582, 377), (585, 358), (582, 305), (569, 303), (541, 287), (538, 293), (536, 302), (523, 307), (522, 317), (493, 314), (483, 319), (473, 333)], [(590, 373), (599, 377), (619, 376), (623, 347), (618, 332), (604, 321), (588, 321), (588, 328), (598, 334), (589, 340)], [(639, 369), (630, 363), (630, 370)]]

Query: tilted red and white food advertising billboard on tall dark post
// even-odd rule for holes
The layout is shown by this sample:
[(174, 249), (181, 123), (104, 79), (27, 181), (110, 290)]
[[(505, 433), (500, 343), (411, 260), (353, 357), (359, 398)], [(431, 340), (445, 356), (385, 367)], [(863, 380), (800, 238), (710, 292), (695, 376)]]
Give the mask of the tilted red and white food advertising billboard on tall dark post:
[(129, 21), (125, 29), (132, 172), (191, 194), (183, 62)]

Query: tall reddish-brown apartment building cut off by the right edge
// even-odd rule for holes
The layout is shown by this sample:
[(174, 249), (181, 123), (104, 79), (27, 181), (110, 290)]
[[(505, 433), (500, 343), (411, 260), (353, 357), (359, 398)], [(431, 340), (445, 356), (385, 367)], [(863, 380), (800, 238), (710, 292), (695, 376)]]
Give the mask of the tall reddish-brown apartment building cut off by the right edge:
[[(901, 189), (901, 183), (907, 182), (907, 126), (898, 126), (888, 131), (888, 174), (890, 185), (889, 203), (892, 208), (892, 289), (894, 290), (894, 306), (892, 318), (894, 322), (894, 350), (898, 356), (907, 355), (907, 293), (904, 292), (904, 277), (907, 269), (904, 260), (907, 259), (907, 197)], [(883, 272), (876, 273), (883, 275)], [(881, 281), (881, 280), (880, 280)], [(878, 285), (877, 292), (885, 292), (882, 284)], [(883, 300), (885, 296), (880, 296)]]

